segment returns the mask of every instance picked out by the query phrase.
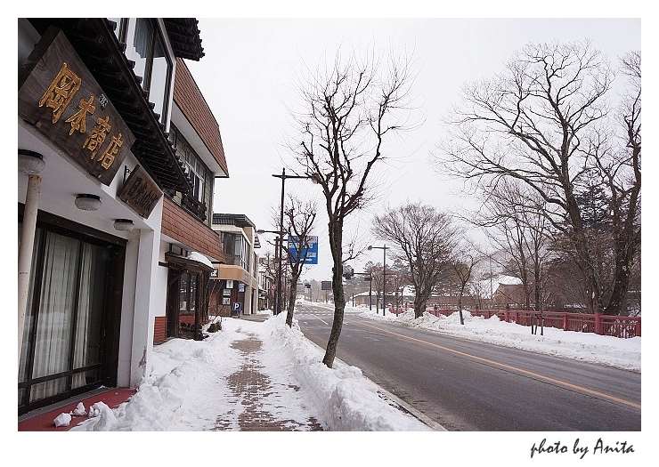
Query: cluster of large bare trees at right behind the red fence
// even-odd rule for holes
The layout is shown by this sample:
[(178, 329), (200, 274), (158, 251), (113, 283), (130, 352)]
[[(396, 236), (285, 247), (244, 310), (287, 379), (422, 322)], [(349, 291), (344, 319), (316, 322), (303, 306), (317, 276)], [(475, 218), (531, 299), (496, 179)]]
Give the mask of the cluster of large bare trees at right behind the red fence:
[(529, 44), (499, 75), (465, 85), (444, 118), (437, 171), (473, 182), (484, 199), (480, 222), (515, 250), (535, 302), (549, 266), (578, 270), (579, 302), (590, 312), (624, 313), (634, 289), (640, 52), (624, 56), (617, 75), (614, 88), (616, 70), (588, 42)]

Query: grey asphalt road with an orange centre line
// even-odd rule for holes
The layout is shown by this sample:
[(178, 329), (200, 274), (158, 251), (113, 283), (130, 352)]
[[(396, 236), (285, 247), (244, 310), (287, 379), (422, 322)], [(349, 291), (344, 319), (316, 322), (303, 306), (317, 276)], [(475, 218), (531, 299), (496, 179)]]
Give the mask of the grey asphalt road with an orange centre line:
[[(331, 310), (297, 305), (325, 348)], [(640, 374), (359, 318), (337, 358), (449, 431), (640, 431)]]

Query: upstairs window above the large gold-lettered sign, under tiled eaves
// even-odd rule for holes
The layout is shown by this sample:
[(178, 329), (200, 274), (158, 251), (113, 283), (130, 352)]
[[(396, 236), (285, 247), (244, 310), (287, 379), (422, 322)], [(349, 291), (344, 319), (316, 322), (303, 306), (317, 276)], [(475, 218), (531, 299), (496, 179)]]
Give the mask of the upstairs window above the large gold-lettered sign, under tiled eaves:
[(127, 22), (111, 18), (121, 25), (115, 29), (119, 40), (126, 43), (126, 57), (135, 63), (134, 73), (142, 77), (142, 89), (153, 102), (153, 111), (160, 123), (167, 125), (169, 91), (172, 83), (174, 57), (167, 50), (165, 35), (158, 22), (151, 18), (136, 18)]

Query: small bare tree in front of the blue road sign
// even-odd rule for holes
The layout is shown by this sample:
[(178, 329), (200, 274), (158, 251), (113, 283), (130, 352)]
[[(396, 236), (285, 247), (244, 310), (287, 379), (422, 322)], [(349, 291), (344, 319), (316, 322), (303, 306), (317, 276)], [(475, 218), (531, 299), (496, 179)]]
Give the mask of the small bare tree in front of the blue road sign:
[(284, 246), (290, 265), (289, 306), (286, 324), (293, 326), (293, 312), (297, 297), (297, 280), (302, 274), (310, 249), (310, 238), (313, 232), (313, 221), (316, 219), (316, 205), (313, 201), (302, 201), (289, 196), (289, 205), (284, 208), (284, 217), (288, 223), (289, 246)]

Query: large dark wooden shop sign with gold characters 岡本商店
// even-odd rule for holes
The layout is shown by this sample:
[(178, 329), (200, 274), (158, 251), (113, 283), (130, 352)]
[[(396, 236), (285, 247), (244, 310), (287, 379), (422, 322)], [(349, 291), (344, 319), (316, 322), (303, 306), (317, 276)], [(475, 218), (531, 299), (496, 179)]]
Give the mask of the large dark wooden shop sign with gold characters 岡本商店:
[(19, 69), (19, 116), (104, 185), (134, 142), (69, 40), (53, 27)]

